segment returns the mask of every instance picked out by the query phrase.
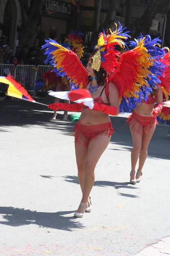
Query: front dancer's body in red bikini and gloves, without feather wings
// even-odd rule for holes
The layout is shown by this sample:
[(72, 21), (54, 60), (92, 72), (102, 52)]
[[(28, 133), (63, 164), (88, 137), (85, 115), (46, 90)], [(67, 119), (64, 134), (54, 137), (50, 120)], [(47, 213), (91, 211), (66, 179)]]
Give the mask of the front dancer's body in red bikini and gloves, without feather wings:
[[(53, 110), (65, 109), (82, 111), (78, 124), (75, 126), (75, 155), (78, 168), (78, 180), (82, 190), (82, 200), (75, 212), (75, 217), (83, 217), (84, 212), (91, 211), (90, 192), (95, 181), (95, 166), (108, 146), (113, 132), (110, 115), (119, 113), (119, 94), (113, 83), (108, 83), (108, 98), (106, 97), (106, 70), (95, 60), (94, 54), (88, 61), (87, 72), (91, 77), (85, 88), (94, 99), (92, 110), (84, 105), (74, 103), (56, 103), (49, 105)], [(93, 59), (94, 58), (94, 59)], [(96, 69), (98, 71), (96, 71)], [(104, 108), (100, 108), (103, 106)], [(100, 110), (100, 111), (97, 111)]]

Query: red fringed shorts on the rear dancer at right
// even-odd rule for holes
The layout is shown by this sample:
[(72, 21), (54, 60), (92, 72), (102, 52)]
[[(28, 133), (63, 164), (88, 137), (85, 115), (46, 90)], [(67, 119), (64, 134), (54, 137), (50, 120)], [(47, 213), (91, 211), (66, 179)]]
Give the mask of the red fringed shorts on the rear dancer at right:
[(130, 123), (131, 130), (137, 133), (143, 133), (143, 130), (148, 133), (152, 126), (158, 124), (156, 116), (143, 117), (136, 112), (132, 112), (126, 123)]

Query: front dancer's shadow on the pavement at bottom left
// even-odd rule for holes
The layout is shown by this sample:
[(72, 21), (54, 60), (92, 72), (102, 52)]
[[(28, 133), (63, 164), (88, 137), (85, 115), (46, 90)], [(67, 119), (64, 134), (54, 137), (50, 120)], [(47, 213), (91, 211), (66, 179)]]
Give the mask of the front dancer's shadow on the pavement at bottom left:
[(48, 213), (14, 207), (0, 207), (0, 214), (4, 215), (3, 218), (5, 220), (0, 221), (0, 224), (12, 227), (34, 224), (40, 227), (62, 229), (66, 231), (84, 229), (85, 226), (79, 223), (76, 218), (63, 216), (73, 212), (74, 211), (58, 211), (55, 213)]

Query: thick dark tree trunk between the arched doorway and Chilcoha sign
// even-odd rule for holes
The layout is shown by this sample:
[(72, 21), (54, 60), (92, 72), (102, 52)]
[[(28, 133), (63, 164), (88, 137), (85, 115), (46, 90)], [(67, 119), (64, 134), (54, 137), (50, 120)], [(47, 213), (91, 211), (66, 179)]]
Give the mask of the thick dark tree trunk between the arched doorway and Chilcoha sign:
[(42, 5), (44, 0), (31, 0), (30, 6), (28, 6), (27, 0), (19, 0), (19, 2), (22, 25), (20, 27), (18, 50), (20, 50), (23, 45), (33, 45), (33, 41), (41, 29)]

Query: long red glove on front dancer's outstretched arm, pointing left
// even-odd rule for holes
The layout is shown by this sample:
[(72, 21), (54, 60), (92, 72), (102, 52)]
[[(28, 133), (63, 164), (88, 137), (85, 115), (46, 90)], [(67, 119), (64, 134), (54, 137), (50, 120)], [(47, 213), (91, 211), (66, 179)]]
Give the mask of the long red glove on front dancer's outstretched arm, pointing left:
[(55, 110), (69, 110), (69, 111), (73, 111), (73, 112), (81, 112), (82, 111), (82, 105), (79, 103), (73, 103), (73, 104), (69, 104), (69, 103), (53, 103), (53, 104), (49, 104), (47, 108), (51, 108), (54, 111)]

